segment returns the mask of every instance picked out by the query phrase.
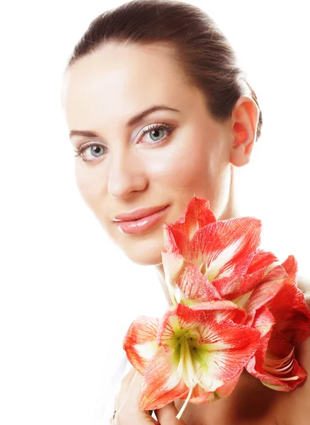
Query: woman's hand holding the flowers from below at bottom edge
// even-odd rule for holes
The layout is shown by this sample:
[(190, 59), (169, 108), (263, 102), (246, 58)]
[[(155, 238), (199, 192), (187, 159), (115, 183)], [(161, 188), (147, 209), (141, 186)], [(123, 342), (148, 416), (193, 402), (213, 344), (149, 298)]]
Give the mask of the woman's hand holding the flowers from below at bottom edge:
[(158, 419), (152, 418), (148, 411), (139, 409), (139, 398), (141, 395), (142, 375), (134, 368), (122, 379), (120, 391), (115, 397), (115, 418), (110, 420), (112, 425), (185, 425), (182, 419), (176, 419), (178, 410), (173, 402), (161, 409), (156, 409)]

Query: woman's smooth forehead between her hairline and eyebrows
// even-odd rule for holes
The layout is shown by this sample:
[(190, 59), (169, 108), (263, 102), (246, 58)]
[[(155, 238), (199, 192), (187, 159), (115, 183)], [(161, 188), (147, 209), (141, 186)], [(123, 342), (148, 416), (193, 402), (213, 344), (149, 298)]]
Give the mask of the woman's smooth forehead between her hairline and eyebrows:
[(62, 104), (69, 128), (120, 123), (154, 104), (189, 105), (193, 87), (171, 47), (108, 43), (82, 57), (64, 74)]

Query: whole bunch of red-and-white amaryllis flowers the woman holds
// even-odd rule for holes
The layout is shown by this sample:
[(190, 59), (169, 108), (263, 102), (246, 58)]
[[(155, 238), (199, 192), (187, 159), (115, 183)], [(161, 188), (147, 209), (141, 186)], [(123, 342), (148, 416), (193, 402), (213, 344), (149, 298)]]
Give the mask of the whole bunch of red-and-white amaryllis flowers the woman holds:
[(264, 385), (294, 389), (306, 379), (294, 348), (310, 336), (310, 310), (297, 288), (297, 261), (259, 248), (254, 217), (216, 220), (194, 196), (180, 219), (163, 223), (161, 252), (173, 305), (141, 316), (123, 348), (143, 375), (140, 409), (184, 399), (204, 404), (231, 394), (243, 367)]

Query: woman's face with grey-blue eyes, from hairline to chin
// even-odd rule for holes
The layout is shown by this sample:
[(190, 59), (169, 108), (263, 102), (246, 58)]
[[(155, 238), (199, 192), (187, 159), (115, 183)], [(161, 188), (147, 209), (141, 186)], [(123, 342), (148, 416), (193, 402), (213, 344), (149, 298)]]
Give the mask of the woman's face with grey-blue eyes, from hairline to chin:
[[(214, 215), (222, 217), (229, 200), (231, 134), (210, 118), (202, 93), (185, 84), (168, 48), (105, 45), (67, 70), (62, 101), (69, 130), (94, 133), (71, 136), (74, 149), (84, 152), (75, 163), (79, 191), (132, 261), (161, 263), (162, 223), (176, 222), (194, 195), (209, 200)], [(163, 105), (176, 111), (158, 109), (130, 123)], [(125, 233), (113, 221), (159, 205), (169, 206), (142, 232)]]

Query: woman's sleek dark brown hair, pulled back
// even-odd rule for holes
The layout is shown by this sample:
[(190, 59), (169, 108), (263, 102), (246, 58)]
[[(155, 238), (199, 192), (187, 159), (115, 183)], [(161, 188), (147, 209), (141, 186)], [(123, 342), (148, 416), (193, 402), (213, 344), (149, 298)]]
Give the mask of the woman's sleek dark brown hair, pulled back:
[[(178, 0), (132, 0), (105, 11), (91, 21), (77, 42), (68, 67), (109, 41), (170, 46), (171, 59), (181, 64), (188, 84), (205, 94), (207, 110), (215, 120), (231, 118), (234, 104), (243, 95), (251, 96), (259, 108), (229, 41), (197, 6)], [(259, 108), (256, 140), (262, 124)]]

